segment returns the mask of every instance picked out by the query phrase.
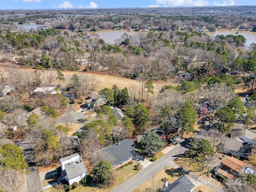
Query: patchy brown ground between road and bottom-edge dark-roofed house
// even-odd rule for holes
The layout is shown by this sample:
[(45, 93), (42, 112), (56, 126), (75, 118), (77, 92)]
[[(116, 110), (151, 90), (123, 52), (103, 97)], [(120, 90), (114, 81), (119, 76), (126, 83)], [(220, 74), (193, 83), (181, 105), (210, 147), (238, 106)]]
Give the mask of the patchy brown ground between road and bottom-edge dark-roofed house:
[[(181, 174), (178, 173), (177, 176), (172, 177), (172, 176), (170, 176), (170, 174), (166, 173), (166, 171), (168, 171), (168, 170), (175, 170), (175, 172), (176, 172), (176, 169), (174, 169), (172, 167), (167, 167), (167, 168), (162, 169), (160, 172), (158, 172), (154, 176), (154, 186), (155, 186), (154, 188), (162, 187), (163, 182), (161, 181), (161, 179), (163, 179), (163, 178), (168, 178), (168, 182), (172, 183), (181, 176)], [(148, 188), (148, 187), (152, 187), (152, 178), (147, 180), (146, 182), (144, 182), (141, 186), (139, 186), (135, 190), (133, 190), (133, 192), (142, 192), (142, 191), (145, 191), (146, 188)]]

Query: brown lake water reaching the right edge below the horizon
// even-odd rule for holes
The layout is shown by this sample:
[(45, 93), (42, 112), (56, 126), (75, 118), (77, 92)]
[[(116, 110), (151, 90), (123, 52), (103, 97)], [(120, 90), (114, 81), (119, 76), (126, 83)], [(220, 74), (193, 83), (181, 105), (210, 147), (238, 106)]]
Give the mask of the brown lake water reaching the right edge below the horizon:
[[(238, 34), (236, 34), (238, 32)], [(246, 44), (245, 46), (250, 46), (253, 42), (256, 43), (256, 32), (252, 31), (242, 31), (242, 30), (228, 30), (228, 29), (220, 29), (216, 30), (214, 32), (207, 32), (206, 34), (212, 36), (217, 36), (217, 35), (242, 35), (244, 38), (246, 38)]]

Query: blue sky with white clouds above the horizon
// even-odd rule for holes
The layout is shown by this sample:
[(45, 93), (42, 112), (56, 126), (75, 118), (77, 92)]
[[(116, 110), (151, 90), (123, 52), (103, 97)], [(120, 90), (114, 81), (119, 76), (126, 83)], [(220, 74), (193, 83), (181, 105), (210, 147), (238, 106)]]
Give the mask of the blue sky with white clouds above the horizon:
[(256, 5), (256, 0), (0, 0), (0, 10)]

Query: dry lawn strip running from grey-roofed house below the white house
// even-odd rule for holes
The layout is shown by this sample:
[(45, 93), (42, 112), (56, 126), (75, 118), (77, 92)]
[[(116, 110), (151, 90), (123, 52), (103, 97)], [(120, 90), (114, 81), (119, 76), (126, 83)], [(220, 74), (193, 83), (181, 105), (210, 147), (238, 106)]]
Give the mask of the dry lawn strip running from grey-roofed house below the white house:
[[(89, 191), (94, 191), (94, 192), (108, 192), (111, 189), (115, 188), (116, 186), (120, 185), (122, 182), (128, 180), (135, 174), (137, 174), (139, 171), (133, 170), (134, 165), (136, 165), (137, 162), (134, 161), (133, 164), (124, 166), (122, 169), (117, 169), (114, 171), (114, 177), (115, 177), (115, 182), (113, 186), (109, 186), (106, 188), (98, 188), (96, 185), (87, 182), (86, 186), (79, 186), (76, 189), (70, 190), (70, 192), (89, 192)], [(47, 192), (56, 192), (57, 190), (53, 187), (49, 188), (46, 190)], [(64, 190), (63, 190), (64, 192)]]

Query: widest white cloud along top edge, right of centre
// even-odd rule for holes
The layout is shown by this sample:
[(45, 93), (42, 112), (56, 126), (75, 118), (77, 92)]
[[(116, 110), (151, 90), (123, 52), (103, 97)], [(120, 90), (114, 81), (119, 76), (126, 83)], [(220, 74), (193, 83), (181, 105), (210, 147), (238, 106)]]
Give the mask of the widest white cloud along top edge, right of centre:
[(206, 6), (209, 4), (206, 0), (156, 0), (156, 3), (168, 6)]

